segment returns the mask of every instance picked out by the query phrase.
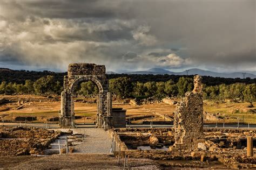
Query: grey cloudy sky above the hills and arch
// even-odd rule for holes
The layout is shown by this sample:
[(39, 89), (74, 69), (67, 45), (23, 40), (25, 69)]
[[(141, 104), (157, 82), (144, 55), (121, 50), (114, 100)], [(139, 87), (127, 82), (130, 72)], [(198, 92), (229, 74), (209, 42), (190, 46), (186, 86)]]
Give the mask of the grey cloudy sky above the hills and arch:
[(0, 67), (256, 70), (255, 0), (1, 0)]

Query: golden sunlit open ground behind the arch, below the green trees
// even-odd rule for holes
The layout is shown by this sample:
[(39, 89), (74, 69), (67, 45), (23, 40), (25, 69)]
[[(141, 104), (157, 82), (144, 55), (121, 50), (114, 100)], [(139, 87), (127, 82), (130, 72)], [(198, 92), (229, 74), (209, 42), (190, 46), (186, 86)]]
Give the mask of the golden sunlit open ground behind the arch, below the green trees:
[[(60, 110), (60, 102), (54, 101), (38, 101), (38, 98), (44, 96), (1, 96), (3, 97), (16, 97), (18, 98), (35, 98), (37, 102), (26, 102), (18, 104), (18, 102), (11, 102), (0, 105), (0, 119), (1, 115), (5, 115), (4, 120), (13, 121), (14, 117), (17, 116), (33, 116), (43, 117), (37, 119), (34, 122), (47, 122), (49, 119), (58, 117)], [(22, 108), (17, 109), (20, 105)], [(240, 123), (256, 124), (256, 102), (253, 103), (254, 107), (250, 107), (250, 103), (218, 103), (214, 101), (204, 101), (204, 111), (210, 114), (218, 114), (225, 118), (225, 123), (236, 123), (239, 119)], [(147, 118), (140, 119), (139, 121), (152, 121), (151, 115), (154, 112), (158, 114), (167, 115), (172, 117), (176, 105), (170, 105), (166, 103), (154, 103), (144, 105), (129, 105), (129, 104), (114, 104), (113, 108), (123, 108), (126, 110), (127, 117), (129, 116), (146, 116)], [(97, 104), (96, 103), (75, 103), (75, 115), (78, 116), (76, 119), (77, 123), (93, 123), (96, 119)], [(48, 119), (48, 120), (47, 120)], [(163, 118), (154, 117), (153, 121), (164, 121)], [(210, 121), (211, 122), (211, 121)], [(206, 123), (210, 123), (206, 122)], [(134, 123), (138, 123), (135, 121)]]

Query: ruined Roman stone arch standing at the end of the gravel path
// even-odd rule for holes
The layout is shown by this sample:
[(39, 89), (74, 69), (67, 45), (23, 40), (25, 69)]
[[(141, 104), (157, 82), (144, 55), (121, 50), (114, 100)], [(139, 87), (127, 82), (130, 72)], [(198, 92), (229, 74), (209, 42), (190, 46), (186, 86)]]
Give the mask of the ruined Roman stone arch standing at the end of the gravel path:
[[(112, 97), (109, 92), (109, 80), (104, 65), (94, 63), (71, 63), (68, 75), (64, 76), (64, 91), (61, 94), (60, 127), (69, 127), (75, 121), (75, 87), (80, 82), (92, 81), (99, 89), (97, 96), (96, 126), (112, 126)], [(104, 124), (105, 122), (105, 124)]]

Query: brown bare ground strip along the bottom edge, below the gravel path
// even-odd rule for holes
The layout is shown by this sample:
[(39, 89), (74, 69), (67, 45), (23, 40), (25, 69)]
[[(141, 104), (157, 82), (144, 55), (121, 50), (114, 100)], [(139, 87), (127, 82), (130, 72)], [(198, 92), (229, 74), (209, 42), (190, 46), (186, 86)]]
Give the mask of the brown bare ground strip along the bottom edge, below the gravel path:
[[(45, 157), (19, 156), (0, 157), (0, 168), (9, 169), (123, 169), (124, 159), (106, 154), (62, 154)], [(159, 165), (148, 159), (127, 159), (126, 167), (132, 169), (159, 169)]]

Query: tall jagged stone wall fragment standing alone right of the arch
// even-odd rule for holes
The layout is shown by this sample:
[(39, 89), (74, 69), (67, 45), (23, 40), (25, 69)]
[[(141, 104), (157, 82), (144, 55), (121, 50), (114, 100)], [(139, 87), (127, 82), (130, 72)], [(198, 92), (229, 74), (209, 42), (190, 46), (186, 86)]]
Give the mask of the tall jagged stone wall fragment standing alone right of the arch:
[(185, 97), (174, 112), (175, 144), (171, 149), (194, 150), (204, 141), (203, 95), (201, 77), (194, 77), (194, 89)]

